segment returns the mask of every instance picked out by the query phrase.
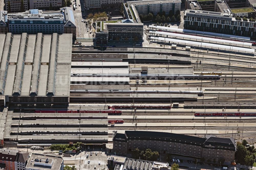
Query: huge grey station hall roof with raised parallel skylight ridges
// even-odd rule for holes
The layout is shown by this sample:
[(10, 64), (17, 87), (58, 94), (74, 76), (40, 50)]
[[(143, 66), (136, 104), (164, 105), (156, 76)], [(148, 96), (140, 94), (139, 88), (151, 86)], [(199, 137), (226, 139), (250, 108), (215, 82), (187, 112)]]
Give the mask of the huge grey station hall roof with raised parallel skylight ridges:
[(1, 94), (69, 96), (72, 34), (7, 33), (0, 39)]

